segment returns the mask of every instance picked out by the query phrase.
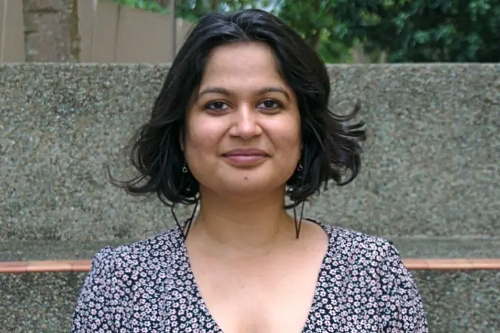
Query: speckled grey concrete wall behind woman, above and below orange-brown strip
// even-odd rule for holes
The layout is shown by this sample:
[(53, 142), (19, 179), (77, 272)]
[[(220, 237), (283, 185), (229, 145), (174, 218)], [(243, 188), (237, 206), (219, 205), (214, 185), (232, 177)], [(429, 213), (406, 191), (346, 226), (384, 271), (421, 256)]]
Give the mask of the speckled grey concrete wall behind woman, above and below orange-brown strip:
[[(0, 65), (0, 261), (90, 259), (172, 227), (108, 184), (168, 65)], [(362, 101), (360, 178), (307, 216), (390, 238), (402, 257), (500, 258), (500, 65), (330, 66), (337, 111)], [(179, 209), (180, 215), (187, 213)], [(414, 271), (429, 332), (500, 332), (498, 270)], [(0, 275), (6, 332), (63, 332), (85, 274)]]

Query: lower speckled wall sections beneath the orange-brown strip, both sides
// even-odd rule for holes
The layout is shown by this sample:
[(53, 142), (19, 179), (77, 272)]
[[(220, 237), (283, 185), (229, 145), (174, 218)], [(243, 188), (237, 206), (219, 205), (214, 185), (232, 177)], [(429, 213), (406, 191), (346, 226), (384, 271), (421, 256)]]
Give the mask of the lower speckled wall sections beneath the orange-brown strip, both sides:
[[(1, 332), (69, 332), (84, 273), (0, 275)], [(430, 333), (500, 332), (500, 273), (419, 271)], [(410, 332), (408, 332), (410, 333)]]

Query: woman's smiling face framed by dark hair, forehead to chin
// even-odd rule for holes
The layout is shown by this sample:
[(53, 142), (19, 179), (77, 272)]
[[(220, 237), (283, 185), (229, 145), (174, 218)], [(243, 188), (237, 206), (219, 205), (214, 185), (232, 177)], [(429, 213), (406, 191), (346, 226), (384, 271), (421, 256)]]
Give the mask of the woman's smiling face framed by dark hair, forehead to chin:
[(296, 96), (266, 44), (214, 49), (187, 113), (182, 147), (200, 193), (284, 190), (300, 157)]

